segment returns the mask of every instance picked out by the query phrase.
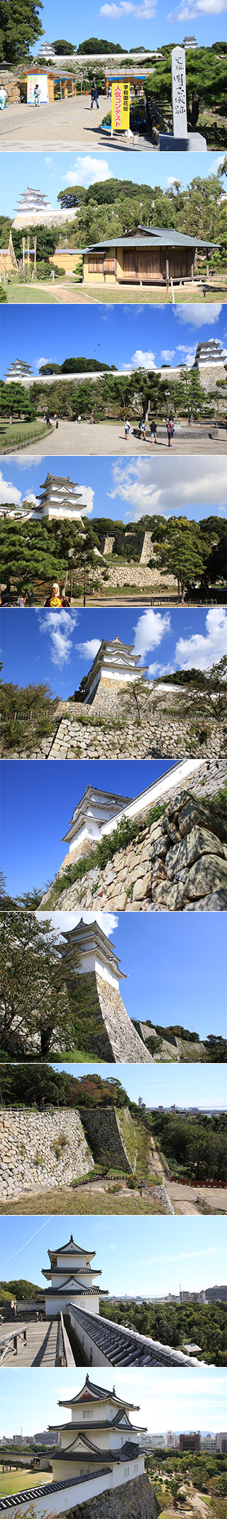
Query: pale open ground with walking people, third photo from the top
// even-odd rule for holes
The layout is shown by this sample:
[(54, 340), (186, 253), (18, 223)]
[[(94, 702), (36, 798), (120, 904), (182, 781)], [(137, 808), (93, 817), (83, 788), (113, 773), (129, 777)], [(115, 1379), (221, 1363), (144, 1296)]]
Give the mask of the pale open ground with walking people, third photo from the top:
[[(44, 439), (41, 437), (35, 444), (27, 444), (27, 448), (20, 450), (20, 457), (23, 457), (23, 454), (29, 454), (32, 457), (33, 454), (44, 456), (47, 453), (54, 456), (65, 454), (65, 457), (94, 457), (97, 454), (124, 454), (126, 457), (130, 457), (130, 454), (156, 456), (157, 448), (160, 450), (160, 457), (163, 453), (169, 453), (166, 433), (163, 430), (160, 430), (160, 433), (157, 431), (157, 445), (150, 441), (142, 444), (138, 437), (133, 437), (132, 431), (129, 434), (129, 442), (126, 444), (123, 422), (118, 422), (117, 427), (114, 422), (80, 422), (76, 427), (76, 422), (59, 421), (58, 433), (56, 430), (50, 434), (45, 433)], [(17, 453), (17, 450), (12, 450), (12, 453)], [(209, 428), (197, 428), (194, 431), (192, 428), (188, 428), (188, 431), (180, 430), (180, 433), (176, 433), (171, 448), (171, 457), (176, 454), (183, 454), (185, 457), (195, 457), (197, 454), (204, 454), (204, 457), (207, 457), (207, 454), (216, 454), (219, 457), (219, 454), (227, 454), (225, 433), (219, 433), (219, 437), (216, 439), (215, 436), (209, 436)]]

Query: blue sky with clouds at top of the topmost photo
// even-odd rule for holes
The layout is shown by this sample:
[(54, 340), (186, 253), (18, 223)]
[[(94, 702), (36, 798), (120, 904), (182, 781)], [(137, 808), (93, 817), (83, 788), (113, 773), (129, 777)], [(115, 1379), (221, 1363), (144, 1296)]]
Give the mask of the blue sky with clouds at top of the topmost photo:
[[(173, 8), (156, 0), (103, 0), (101, 5), (86, 3), (86, 15), (74, 11), (73, 0), (67, 6), (67, 43), (79, 47), (85, 36), (103, 36), (121, 47), (162, 47), (166, 43), (182, 43), (194, 32), (200, 47), (207, 47), (225, 36), (224, 0), (179, 0)], [(47, 0), (41, 21), (48, 43), (62, 36), (61, 0)], [(151, 23), (151, 24), (150, 24)], [(39, 41), (39, 47), (44, 38)], [(38, 52), (38, 47), (36, 47)]]

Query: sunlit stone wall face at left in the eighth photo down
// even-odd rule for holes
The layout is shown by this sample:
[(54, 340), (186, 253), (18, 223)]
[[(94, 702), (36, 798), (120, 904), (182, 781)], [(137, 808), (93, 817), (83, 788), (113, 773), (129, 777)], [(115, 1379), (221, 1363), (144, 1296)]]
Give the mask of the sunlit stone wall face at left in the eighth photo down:
[(61, 1107), (0, 1112), (0, 1195), (70, 1186), (88, 1174), (94, 1159), (79, 1112)]

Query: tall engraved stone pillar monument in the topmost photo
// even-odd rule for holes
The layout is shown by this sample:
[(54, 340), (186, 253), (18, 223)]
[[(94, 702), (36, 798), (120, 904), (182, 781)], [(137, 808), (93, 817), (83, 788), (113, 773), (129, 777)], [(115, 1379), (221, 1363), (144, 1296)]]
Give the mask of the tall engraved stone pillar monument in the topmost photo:
[(185, 47), (173, 47), (173, 132), (159, 132), (160, 152), (206, 152), (206, 137), (188, 132)]

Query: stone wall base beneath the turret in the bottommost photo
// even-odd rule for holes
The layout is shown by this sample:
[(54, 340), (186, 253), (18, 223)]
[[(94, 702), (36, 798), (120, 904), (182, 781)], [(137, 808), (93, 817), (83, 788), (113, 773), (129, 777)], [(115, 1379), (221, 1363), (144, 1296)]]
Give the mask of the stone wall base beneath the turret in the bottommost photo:
[[(133, 1483), (126, 1483), (117, 1492), (92, 1498), (80, 1504), (76, 1519), (157, 1519), (160, 1507), (147, 1473)], [(71, 1510), (73, 1516), (73, 1510)]]

